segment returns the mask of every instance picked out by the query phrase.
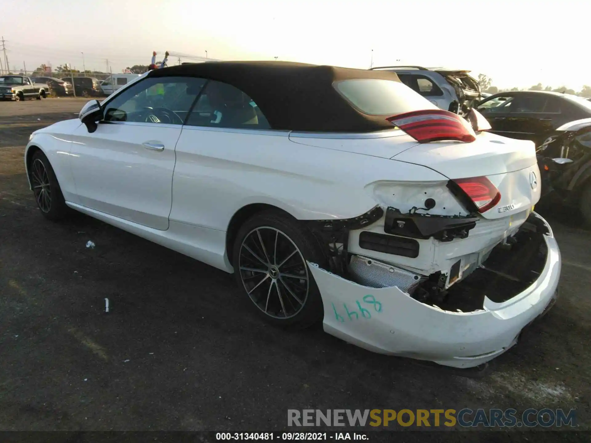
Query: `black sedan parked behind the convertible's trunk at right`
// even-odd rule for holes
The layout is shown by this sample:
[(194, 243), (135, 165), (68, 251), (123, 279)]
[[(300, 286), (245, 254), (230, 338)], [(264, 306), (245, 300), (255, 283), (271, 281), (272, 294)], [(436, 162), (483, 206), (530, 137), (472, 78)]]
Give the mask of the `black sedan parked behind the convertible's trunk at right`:
[(491, 132), (541, 145), (564, 123), (591, 118), (591, 102), (548, 91), (499, 92), (476, 106), (491, 123)]

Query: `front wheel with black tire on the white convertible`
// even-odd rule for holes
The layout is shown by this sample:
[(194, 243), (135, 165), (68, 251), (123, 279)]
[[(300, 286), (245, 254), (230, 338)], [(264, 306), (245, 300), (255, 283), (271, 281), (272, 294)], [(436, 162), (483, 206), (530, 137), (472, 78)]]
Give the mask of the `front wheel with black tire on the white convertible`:
[(41, 214), (48, 220), (61, 220), (69, 209), (61, 193), (60, 184), (49, 160), (42, 151), (37, 151), (31, 158), (29, 175), (33, 195)]

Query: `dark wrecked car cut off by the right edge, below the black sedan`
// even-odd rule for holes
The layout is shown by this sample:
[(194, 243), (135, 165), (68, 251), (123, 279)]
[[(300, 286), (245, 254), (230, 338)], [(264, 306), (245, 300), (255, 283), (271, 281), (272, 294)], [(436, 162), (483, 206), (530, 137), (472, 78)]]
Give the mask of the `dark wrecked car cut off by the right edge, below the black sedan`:
[(591, 229), (591, 118), (556, 129), (538, 148), (544, 194), (560, 196), (579, 209)]

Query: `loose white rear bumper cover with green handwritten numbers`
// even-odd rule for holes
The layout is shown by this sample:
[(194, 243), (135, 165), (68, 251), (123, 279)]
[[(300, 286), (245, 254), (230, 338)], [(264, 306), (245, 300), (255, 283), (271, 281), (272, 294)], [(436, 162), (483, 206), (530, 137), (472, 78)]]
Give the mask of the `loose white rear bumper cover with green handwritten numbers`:
[[(535, 214), (535, 213), (534, 213)], [(548, 227), (547, 258), (540, 277), (525, 291), (483, 310), (443, 311), (423, 304), (397, 287), (369, 288), (309, 263), (322, 294), (324, 331), (368, 350), (473, 367), (517, 343), (522, 328), (554, 301), (560, 278), (560, 250)]]

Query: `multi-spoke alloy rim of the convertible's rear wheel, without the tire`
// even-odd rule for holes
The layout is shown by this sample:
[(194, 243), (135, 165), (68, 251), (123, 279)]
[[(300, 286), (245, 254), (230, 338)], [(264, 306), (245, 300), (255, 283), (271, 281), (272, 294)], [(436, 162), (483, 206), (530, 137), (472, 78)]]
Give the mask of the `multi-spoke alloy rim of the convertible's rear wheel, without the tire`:
[(238, 266), (249, 297), (269, 317), (294, 317), (306, 304), (310, 292), (306, 260), (280, 230), (262, 226), (246, 234)]

